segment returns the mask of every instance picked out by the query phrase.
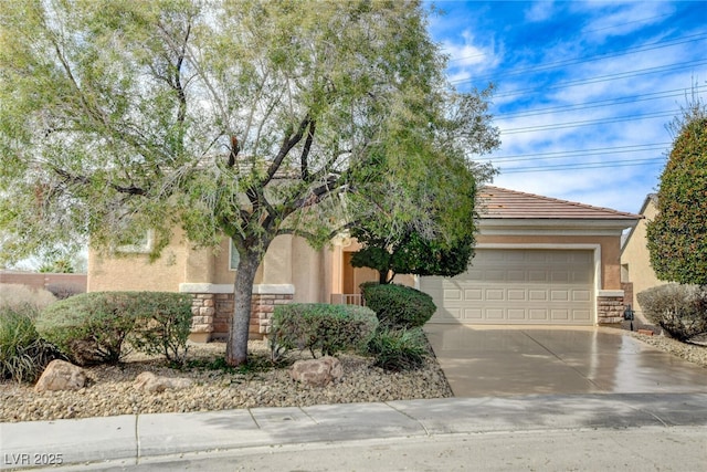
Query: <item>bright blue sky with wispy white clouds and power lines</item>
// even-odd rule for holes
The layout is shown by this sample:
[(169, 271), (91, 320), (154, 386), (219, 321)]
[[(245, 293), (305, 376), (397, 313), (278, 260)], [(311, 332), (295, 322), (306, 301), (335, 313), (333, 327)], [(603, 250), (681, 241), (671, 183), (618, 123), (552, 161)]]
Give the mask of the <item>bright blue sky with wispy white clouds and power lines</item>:
[(704, 1), (434, 1), (461, 91), (495, 86), (494, 185), (639, 212), (692, 95), (707, 98)]

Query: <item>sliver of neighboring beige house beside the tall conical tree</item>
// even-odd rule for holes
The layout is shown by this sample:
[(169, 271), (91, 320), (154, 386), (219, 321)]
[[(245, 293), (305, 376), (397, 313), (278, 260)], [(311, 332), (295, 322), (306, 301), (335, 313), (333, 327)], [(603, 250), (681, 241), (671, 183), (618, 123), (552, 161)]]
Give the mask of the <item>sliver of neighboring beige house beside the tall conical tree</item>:
[(633, 285), (633, 300), (627, 303), (631, 303), (637, 315), (643, 315), (643, 310), (636, 295), (646, 289), (667, 283), (655, 275), (647, 248), (646, 224), (657, 216), (657, 195), (650, 193), (646, 197), (640, 211), (644, 218), (631, 230), (621, 248), (621, 277)]

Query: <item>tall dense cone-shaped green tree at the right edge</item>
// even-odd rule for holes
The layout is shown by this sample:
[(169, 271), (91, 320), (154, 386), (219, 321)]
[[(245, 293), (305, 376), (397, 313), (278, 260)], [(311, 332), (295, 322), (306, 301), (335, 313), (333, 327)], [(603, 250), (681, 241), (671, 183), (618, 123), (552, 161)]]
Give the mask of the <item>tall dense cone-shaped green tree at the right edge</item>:
[(707, 285), (707, 113), (697, 101), (672, 128), (673, 148), (647, 223), (651, 265), (658, 279)]

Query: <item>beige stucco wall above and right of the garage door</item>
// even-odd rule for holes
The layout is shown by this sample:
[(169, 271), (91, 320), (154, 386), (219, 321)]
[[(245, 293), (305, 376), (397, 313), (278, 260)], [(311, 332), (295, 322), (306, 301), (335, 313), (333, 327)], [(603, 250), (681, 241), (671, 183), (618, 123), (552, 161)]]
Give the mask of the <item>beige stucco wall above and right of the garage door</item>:
[(477, 244), (514, 244), (518, 247), (532, 244), (599, 244), (601, 249), (601, 286), (600, 290), (621, 290), (621, 237), (618, 235), (484, 235), (478, 234)]

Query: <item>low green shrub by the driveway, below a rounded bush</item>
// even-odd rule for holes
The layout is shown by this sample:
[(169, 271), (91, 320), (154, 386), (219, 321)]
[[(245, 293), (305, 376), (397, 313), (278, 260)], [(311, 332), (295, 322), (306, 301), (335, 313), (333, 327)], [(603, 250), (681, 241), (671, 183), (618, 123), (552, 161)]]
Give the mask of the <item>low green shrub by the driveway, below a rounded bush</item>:
[(386, 370), (401, 371), (420, 368), (429, 355), (422, 328), (389, 328), (381, 326), (368, 343), (373, 365)]

